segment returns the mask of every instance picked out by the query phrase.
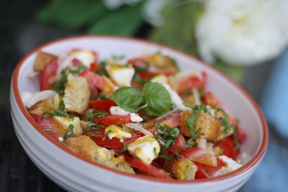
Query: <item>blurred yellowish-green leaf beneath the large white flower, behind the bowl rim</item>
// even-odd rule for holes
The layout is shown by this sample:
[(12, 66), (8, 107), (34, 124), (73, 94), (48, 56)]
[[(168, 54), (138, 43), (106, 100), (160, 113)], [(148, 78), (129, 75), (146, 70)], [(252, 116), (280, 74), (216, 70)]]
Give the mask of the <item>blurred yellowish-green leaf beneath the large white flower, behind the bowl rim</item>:
[(243, 79), (244, 67), (242, 66), (228, 65), (218, 59), (214, 62), (213, 66), (236, 82), (241, 82)]

